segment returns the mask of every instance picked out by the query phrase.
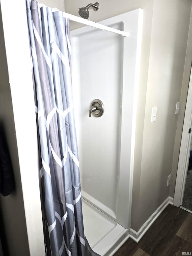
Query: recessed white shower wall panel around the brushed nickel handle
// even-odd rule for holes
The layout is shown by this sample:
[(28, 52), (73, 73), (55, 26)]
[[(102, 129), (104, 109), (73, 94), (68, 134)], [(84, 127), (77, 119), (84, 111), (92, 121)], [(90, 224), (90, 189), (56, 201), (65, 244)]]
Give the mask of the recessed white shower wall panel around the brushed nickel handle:
[[(113, 27), (123, 30), (122, 25)], [(79, 36), (78, 43), (75, 44), (74, 47), (72, 40), (73, 53), (79, 51), (80, 63), (79, 93), (74, 93), (74, 102), (78, 118), (76, 129), (82, 170), (82, 196), (89, 200), (92, 198), (100, 208), (104, 207), (111, 215), (116, 215), (122, 118), (123, 38), (110, 32), (93, 30)], [(72, 62), (74, 61), (77, 60), (73, 59)], [(76, 82), (75, 84), (77, 86)], [(88, 116), (91, 101), (94, 99), (100, 99), (104, 104), (104, 114), (99, 118)]]

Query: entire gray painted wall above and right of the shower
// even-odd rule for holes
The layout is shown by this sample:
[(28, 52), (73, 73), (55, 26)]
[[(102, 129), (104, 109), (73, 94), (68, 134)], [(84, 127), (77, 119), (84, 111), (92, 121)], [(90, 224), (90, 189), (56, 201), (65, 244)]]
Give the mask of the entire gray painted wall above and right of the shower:
[[(114, 0), (105, 0), (99, 4), (97, 12), (90, 11), (90, 20), (104, 20), (137, 8), (144, 11), (131, 215), (131, 227), (138, 231), (174, 194), (177, 168), (172, 170), (172, 165), (177, 165), (181, 136), (176, 135), (176, 129), (178, 116), (180, 127), (184, 117), (184, 111), (175, 115), (175, 109), (182, 88), (186, 94), (190, 75), (191, 57), (186, 62), (185, 57), (191, 0), (123, 0), (118, 5)], [(65, 0), (65, 11), (78, 16), (78, 8), (86, 5), (85, 0)], [(82, 26), (74, 22), (70, 25), (72, 30)], [(182, 109), (185, 102), (184, 96)], [(158, 107), (153, 123), (152, 107)], [(171, 173), (172, 184), (167, 187)]]

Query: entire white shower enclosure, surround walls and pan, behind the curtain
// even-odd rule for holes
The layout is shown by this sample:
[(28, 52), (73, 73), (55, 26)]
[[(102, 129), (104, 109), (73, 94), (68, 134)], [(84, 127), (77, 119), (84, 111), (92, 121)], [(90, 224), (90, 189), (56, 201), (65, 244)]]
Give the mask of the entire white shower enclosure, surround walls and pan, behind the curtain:
[[(71, 31), (72, 86), (85, 236), (112, 255), (129, 235), (143, 10), (100, 22), (128, 37), (85, 26)], [(91, 115), (91, 101), (104, 104)]]

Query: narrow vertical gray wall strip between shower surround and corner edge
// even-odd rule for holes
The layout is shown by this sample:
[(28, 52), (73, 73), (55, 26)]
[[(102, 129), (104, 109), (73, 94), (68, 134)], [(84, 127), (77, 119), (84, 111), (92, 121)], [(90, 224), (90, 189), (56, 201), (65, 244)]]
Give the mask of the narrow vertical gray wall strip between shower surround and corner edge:
[(152, 37), (153, 2), (143, 4), (143, 36), (140, 61), (140, 78), (137, 104), (133, 194), (131, 207), (131, 228), (138, 231), (141, 227), (140, 221), (140, 182), (142, 171), (143, 131), (145, 120), (146, 93), (148, 84), (149, 58)]

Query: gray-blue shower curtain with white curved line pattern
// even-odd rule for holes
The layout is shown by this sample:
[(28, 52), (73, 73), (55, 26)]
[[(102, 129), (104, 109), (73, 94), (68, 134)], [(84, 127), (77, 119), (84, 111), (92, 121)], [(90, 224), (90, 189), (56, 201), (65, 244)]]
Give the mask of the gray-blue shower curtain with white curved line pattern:
[[(46, 255), (98, 255), (84, 236), (69, 20), (26, 1), (39, 135)], [(94, 231), (93, 231), (94, 232)]]

